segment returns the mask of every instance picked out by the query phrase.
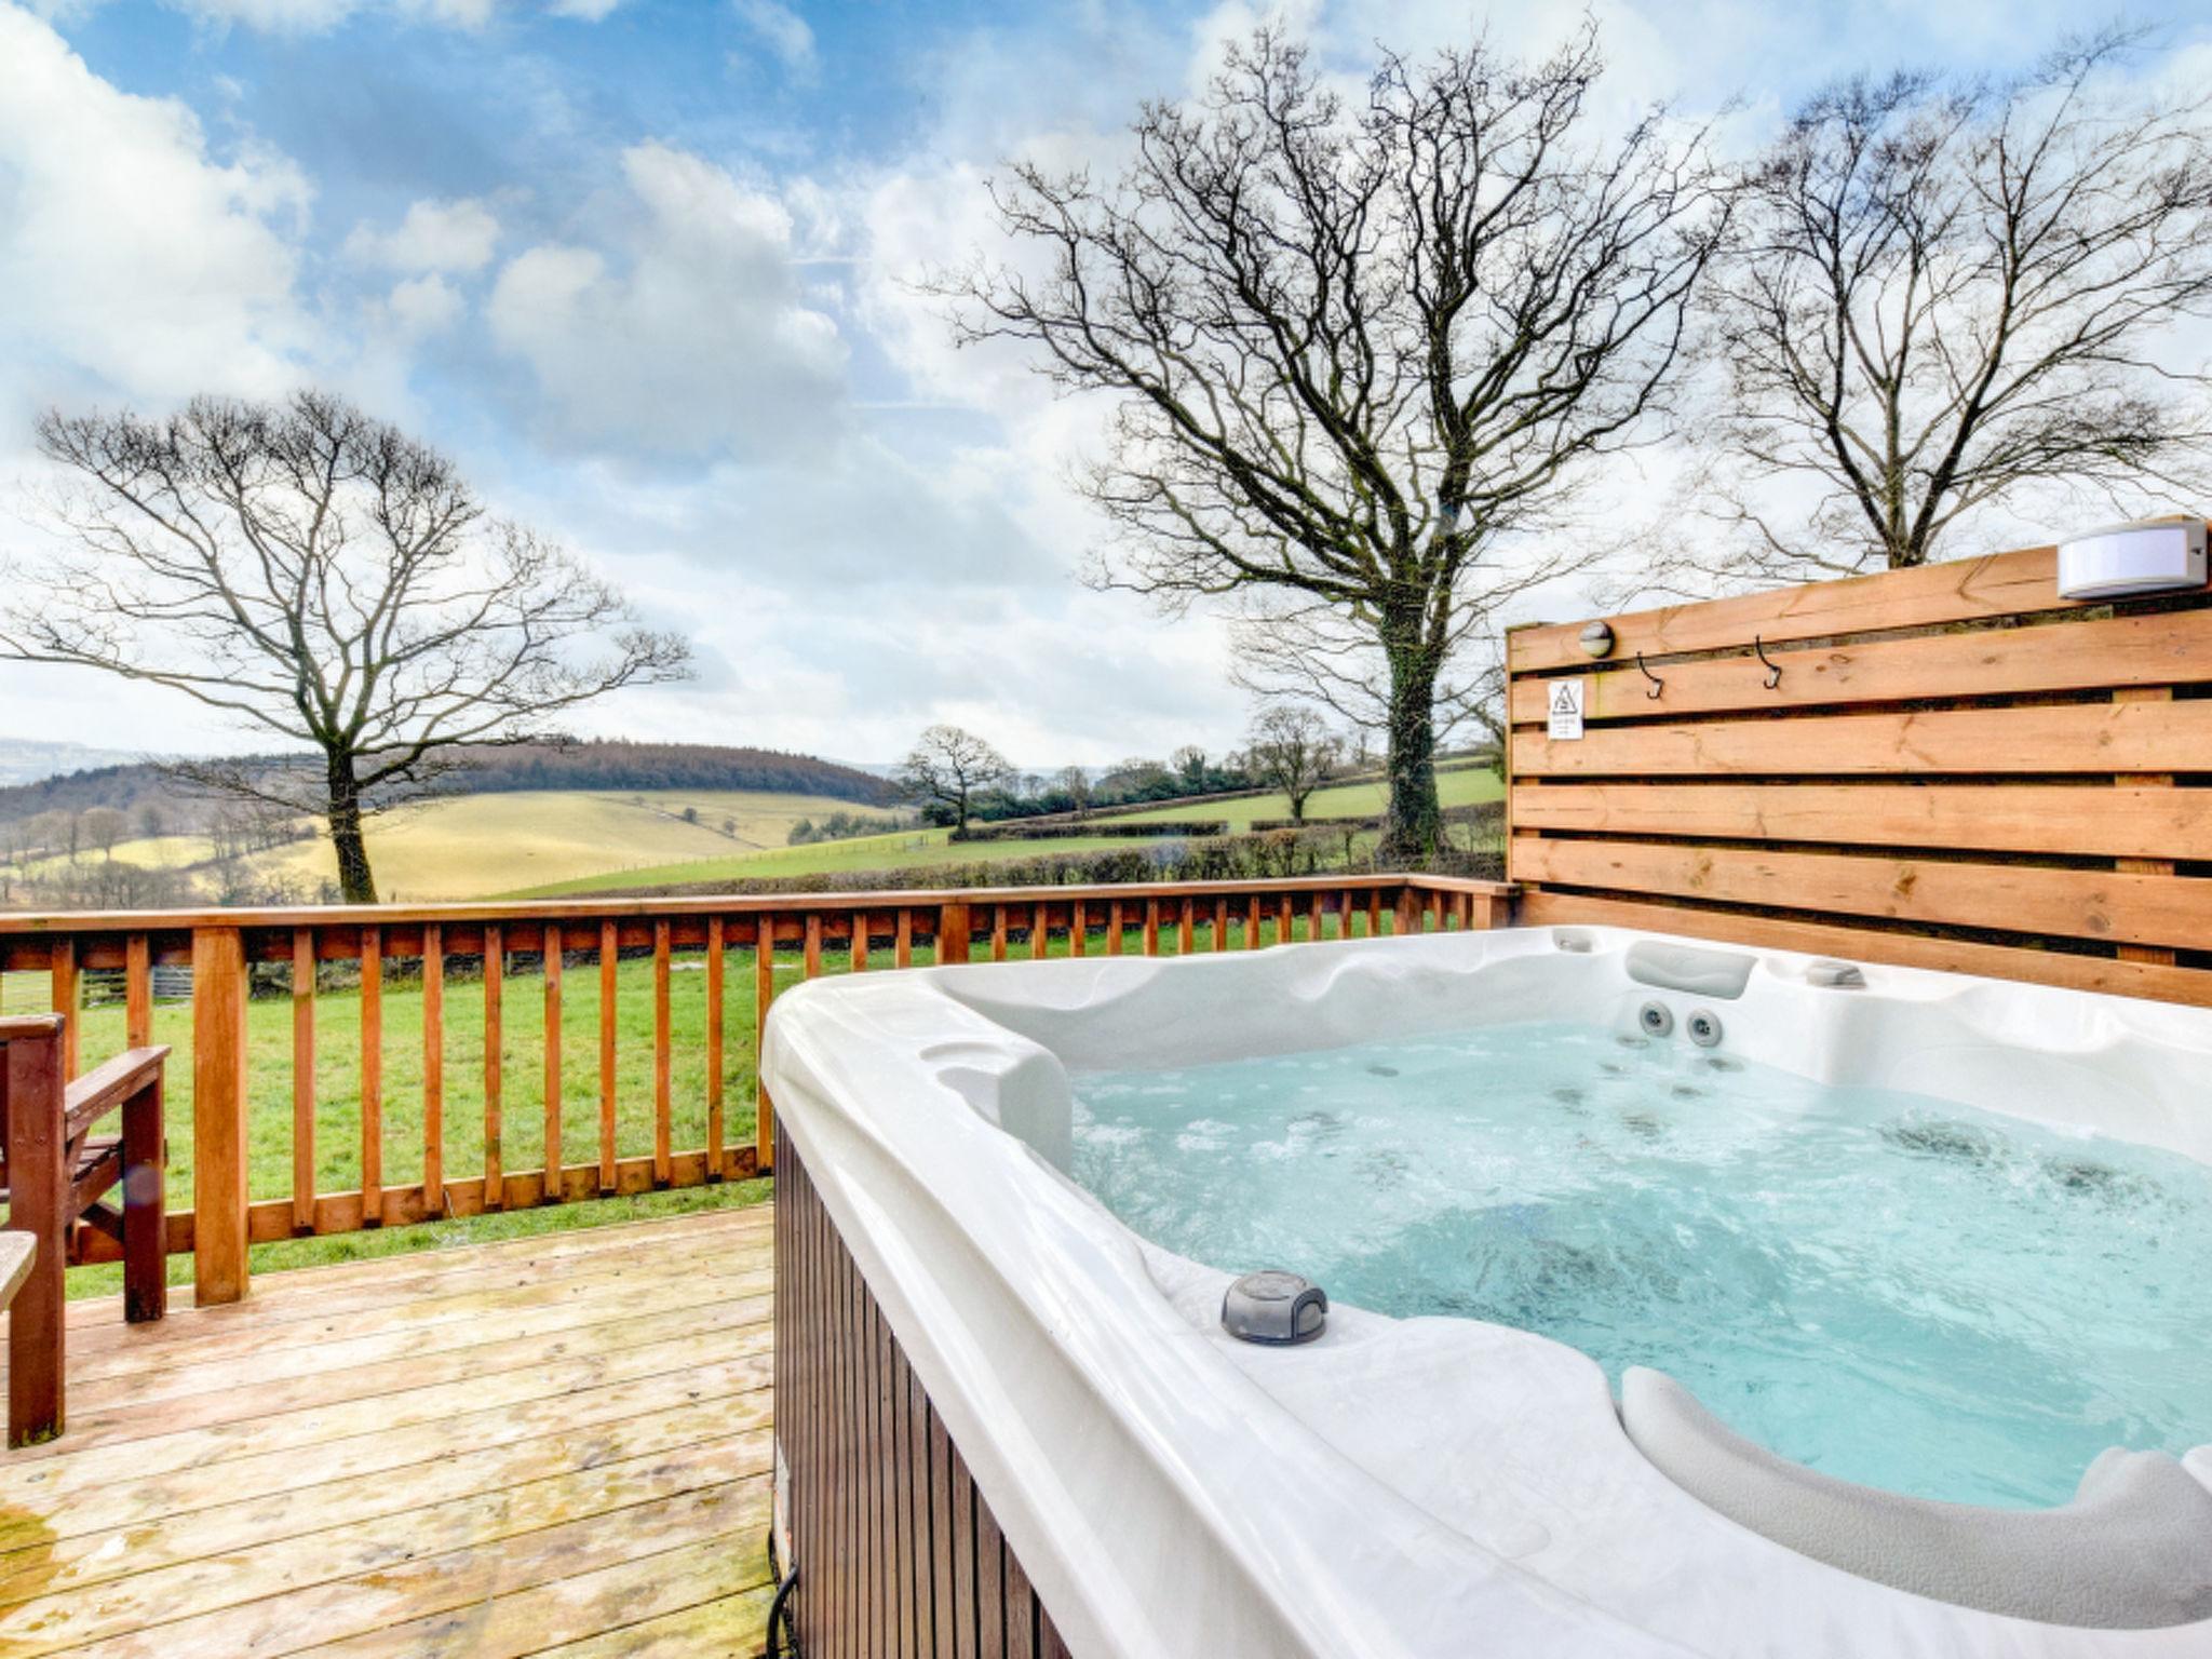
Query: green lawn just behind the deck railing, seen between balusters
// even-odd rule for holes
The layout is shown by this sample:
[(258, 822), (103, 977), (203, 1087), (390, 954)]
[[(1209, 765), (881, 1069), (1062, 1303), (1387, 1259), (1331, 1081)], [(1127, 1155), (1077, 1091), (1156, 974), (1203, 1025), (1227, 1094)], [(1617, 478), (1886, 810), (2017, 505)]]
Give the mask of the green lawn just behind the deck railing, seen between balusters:
[[(1263, 942), (1274, 942), (1274, 920)], [(1212, 925), (1199, 922), (1197, 949), (1212, 949)], [(1020, 947), (1026, 953), (1026, 947)], [(1093, 940), (1093, 949), (1097, 940)], [(1066, 938), (1051, 940), (1051, 956), (1066, 956)], [(1161, 953), (1175, 953), (1175, 931), (1161, 936)], [(931, 953), (918, 947), (916, 964)], [(894, 967), (889, 949), (869, 958), (872, 969)], [(825, 973), (849, 973), (843, 953), (830, 953)], [(779, 956), (779, 984), (796, 984), (799, 956)], [(653, 962), (622, 962), (615, 975), (617, 1015), (617, 1157), (653, 1150)], [(591, 964), (571, 967), (562, 995), (562, 1161), (588, 1164), (599, 1152), (599, 975)], [(754, 1006), (752, 951), (730, 951), (723, 982), (723, 1115), (730, 1146), (752, 1144), (754, 1099)], [(0, 975), (0, 1013), (40, 1013), (49, 1006), (44, 973)], [(502, 1113), (500, 1157), (504, 1168), (544, 1164), (544, 980), (509, 973), (502, 998)], [(283, 1199), (292, 1192), (292, 1000), (257, 998), (248, 1004), (248, 1194)], [(119, 1006), (84, 1009), (80, 1015), (80, 1064), (91, 1068), (124, 1046)], [(170, 1077), (192, 1075), (192, 1011), (181, 1002), (155, 1009), (155, 1042), (170, 1044)], [(383, 1164), (385, 1183), (422, 1179), (422, 998), (416, 984), (392, 978), (385, 984), (383, 1033)], [(447, 975), (445, 995), (445, 1168), (449, 1179), (467, 1179), (484, 1168), (482, 980)], [(675, 1150), (706, 1146), (706, 973), (703, 956), (677, 951), (670, 975), (670, 1119)], [(168, 1124), (168, 1201), (192, 1203), (192, 1133), (186, 1117), (188, 1084), (173, 1088)], [(361, 1186), (361, 1000), (352, 991), (316, 995), (316, 1190), (343, 1192)], [(361, 1254), (425, 1250), (449, 1243), (507, 1239), (606, 1219), (675, 1214), (761, 1197), (748, 1186), (717, 1190), (657, 1192), (604, 1203), (562, 1203), (511, 1217), (471, 1217), (389, 1232), (334, 1234), (254, 1245), (254, 1267), (314, 1265)], [(170, 1259), (170, 1281), (186, 1283), (190, 1256)], [(69, 1274), (71, 1296), (113, 1294), (122, 1287), (115, 1265), (77, 1267)]]

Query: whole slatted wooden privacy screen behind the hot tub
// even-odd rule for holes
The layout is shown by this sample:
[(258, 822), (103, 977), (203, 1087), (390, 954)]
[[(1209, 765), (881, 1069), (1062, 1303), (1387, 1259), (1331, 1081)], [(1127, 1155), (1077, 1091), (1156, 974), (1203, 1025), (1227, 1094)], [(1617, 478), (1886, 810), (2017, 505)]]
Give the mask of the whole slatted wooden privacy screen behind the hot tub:
[(2212, 1004), (2212, 591), (2042, 546), (1610, 626), (1509, 637), (1520, 920)]

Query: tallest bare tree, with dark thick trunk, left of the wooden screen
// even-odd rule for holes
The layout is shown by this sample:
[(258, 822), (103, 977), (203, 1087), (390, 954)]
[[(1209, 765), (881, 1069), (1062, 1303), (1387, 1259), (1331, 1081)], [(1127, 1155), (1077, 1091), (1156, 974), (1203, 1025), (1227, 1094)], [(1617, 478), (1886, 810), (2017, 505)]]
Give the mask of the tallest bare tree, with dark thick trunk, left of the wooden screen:
[(1352, 639), (1383, 684), (1387, 858), (1440, 841), (1453, 653), (1595, 553), (1553, 535), (1595, 462), (1655, 436), (1728, 190), (1663, 113), (1588, 133), (1593, 31), (1542, 64), (1387, 55), (1340, 100), (1261, 31), (1192, 104), (1146, 104), (1117, 184), (993, 188), (1044, 272), (936, 279), (958, 338), (1013, 338), (1119, 398), (1088, 495), (1099, 580)]

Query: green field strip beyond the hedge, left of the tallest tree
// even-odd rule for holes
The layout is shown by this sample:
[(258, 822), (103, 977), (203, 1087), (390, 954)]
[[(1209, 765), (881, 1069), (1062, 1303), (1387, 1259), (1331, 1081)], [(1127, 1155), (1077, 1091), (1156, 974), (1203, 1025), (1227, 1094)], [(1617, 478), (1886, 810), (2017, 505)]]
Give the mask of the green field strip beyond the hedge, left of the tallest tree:
[[(1438, 772), (1438, 796), (1447, 807), (1495, 801), (1502, 794), (1498, 774), (1486, 768), (1455, 768)], [(1316, 792), (1307, 803), (1310, 818), (1352, 818), (1383, 812), (1380, 783), (1347, 783)], [(1245, 801), (1201, 801), (1192, 805), (1155, 807), (1150, 812), (1115, 814), (1119, 823), (1183, 823), (1192, 818), (1221, 818), (1232, 830), (1243, 830), (1254, 818), (1285, 818), (1290, 801), (1281, 794), (1261, 794)], [(969, 841), (958, 843), (949, 830), (905, 830), (889, 836), (856, 836), (854, 841), (830, 841), (814, 847), (783, 847), (779, 852), (739, 854), (719, 858), (688, 858), (684, 863), (655, 865), (650, 869), (624, 869), (573, 880), (557, 880), (538, 887), (518, 887), (500, 898), (577, 898), (606, 894), (626, 887), (664, 887), (679, 883), (712, 880), (757, 880), (768, 876), (827, 876), (856, 869), (911, 869), (927, 865), (967, 865), (1000, 858), (1033, 858), (1037, 854), (1102, 852), (1106, 847), (1144, 845), (1126, 836), (1066, 836), (1037, 841)]]

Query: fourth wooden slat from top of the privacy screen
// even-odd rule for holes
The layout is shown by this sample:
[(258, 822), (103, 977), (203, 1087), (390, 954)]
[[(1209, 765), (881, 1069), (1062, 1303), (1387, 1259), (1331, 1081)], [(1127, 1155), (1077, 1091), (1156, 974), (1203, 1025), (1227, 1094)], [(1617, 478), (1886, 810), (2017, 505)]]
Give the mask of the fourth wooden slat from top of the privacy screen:
[(2075, 785), (1590, 783), (1517, 787), (1513, 823), (1615, 836), (2212, 858), (2212, 792)]

